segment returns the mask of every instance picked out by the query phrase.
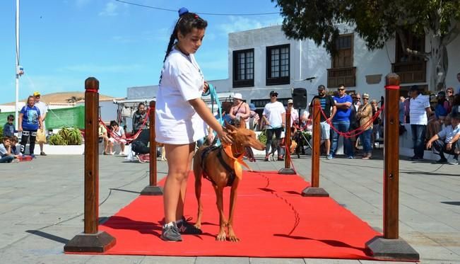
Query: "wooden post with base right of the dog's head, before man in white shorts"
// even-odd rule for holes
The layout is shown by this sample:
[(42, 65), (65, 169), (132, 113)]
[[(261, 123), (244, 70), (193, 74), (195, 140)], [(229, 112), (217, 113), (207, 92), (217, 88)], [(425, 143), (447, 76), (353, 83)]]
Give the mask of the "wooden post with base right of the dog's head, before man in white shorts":
[(329, 197), (323, 188), (319, 188), (319, 156), (321, 145), (321, 105), (319, 99), (315, 99), (312, 108), (313, 115), (313, 142), (312, 142), (312, 182), (311, 186), (302, 191), (303, 196)]

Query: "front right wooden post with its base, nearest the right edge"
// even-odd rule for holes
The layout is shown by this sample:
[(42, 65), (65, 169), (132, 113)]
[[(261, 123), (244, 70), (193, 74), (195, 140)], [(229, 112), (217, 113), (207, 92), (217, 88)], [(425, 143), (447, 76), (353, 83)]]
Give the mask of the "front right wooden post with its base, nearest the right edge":
[(386, 77), (384, 120), (384, 236), (367, 241), (375, 258), (419, 260), (419, 255), (399, 238), (399, 76)]

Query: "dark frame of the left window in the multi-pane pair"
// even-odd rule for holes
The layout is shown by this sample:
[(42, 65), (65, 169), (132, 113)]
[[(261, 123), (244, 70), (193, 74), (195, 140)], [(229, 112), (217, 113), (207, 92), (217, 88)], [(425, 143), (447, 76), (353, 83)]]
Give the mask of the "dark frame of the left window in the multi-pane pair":
[[(252, 62), (247, 62), (246, 57), (249, 52), (252, 52)], [(241, 62), (239, 59), (239, 55), (244, 54), (244, 69), (241, 69)], [(232, 69), (233, 69), (233, 88), (239, 87), (252, 87), (254, 86), (254, 65), (255, 65), (255, 57), (254, 57), (254, 49), (247, 49), (247, 50), (234, 50), (233, 51), (233, 62), (232, 62)], [(249, 66), (247, 67), (247, 63)], [(251, 71), (252, 70), (252, 71)], [(242, 71), (244, 74), (244, 78), (242, 78)], [(251, 78), (252, 77), (252, 78)]]

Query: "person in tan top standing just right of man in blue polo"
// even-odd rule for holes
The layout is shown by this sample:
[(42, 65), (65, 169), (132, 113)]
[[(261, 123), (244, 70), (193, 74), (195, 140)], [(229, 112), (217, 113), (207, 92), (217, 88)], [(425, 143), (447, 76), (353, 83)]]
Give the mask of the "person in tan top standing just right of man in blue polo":
[(362, 104), (358, 108), (356, 118), (360, 120), (360, 140), (362, 144), (362, 159), (372, 158), (372, 105), (369, 103), (369, 94), (362, 93)]

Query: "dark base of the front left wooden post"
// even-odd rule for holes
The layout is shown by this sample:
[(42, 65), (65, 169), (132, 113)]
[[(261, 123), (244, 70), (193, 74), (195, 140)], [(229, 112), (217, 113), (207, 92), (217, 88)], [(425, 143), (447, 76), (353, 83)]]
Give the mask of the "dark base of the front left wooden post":
[(81, 233), (66, 243), (64, 252), (102, 253), (115, 246), (116, 242), (117, 240), (105, 231), (99, 231), (96, 234)]

